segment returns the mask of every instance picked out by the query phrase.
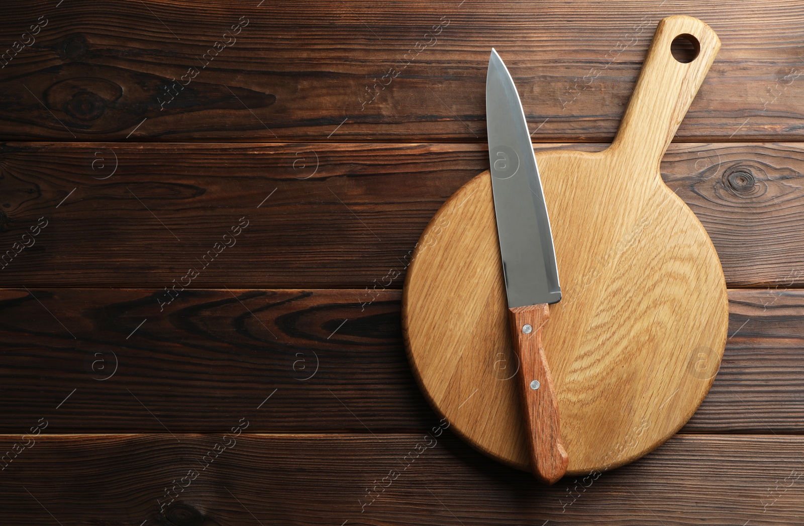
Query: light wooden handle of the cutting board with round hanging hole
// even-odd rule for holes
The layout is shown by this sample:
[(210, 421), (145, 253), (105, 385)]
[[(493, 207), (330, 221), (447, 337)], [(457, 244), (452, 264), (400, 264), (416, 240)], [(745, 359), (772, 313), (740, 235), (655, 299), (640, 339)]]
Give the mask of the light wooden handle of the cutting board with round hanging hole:
[[(683, 63), (673, 56), (671, 45), (677, 37), (697, 49), (695, 59)], [(719, 49), (720, 39), (715, 31), (698, 18), (683, 15), (663, 18), (656, 27), (634, 94), (611, 145), (612, 153), (627, 156), (639, 152), (646, 160), (655, 162), (658, 175), (658, 164)]]

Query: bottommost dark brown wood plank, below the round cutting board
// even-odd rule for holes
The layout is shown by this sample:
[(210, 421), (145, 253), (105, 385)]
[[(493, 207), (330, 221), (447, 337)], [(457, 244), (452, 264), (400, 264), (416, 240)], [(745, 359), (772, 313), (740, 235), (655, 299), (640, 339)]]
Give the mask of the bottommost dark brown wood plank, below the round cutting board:
[(804, 514), (800, 436), (677, 435), (629, 466), (545, 487), (438, 425), (377, 438), (3, 435), (6, 447), (31, 444), (0, 477), (3, 524), (532, 526), (594, 516), (607, 526), (779, 526)]

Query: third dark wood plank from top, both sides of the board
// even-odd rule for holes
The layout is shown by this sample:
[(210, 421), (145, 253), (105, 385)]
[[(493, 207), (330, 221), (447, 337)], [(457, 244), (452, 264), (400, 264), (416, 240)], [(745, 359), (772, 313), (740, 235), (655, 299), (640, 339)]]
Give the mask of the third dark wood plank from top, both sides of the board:
[[(0, 291), (0, 431), (39, 417), (58, 433), (221, 431), (248, 413), (259, 431), (379, 433), (435, 418), (398, 290), (184, 290), (162, 311), (159, 294)], [(729, 294), (724, 361), (685, 432), (802, 433), (804, 291)], [(689, 352), (690, 374), (715, 374)]]

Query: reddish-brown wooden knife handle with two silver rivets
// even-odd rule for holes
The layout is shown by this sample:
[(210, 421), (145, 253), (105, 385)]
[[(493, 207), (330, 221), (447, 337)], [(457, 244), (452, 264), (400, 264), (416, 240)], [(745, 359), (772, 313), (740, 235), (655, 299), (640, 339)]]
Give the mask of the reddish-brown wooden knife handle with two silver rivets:
[(569, 459), (561, 446), (558, 401), (542, 348), (542, 327), (548, 318), (547, 303), (508, 310), (511, 339), (519, 356), (519, 393), (531, 451), (531, 471), (541, 482), (552, 484), (564, 476)]

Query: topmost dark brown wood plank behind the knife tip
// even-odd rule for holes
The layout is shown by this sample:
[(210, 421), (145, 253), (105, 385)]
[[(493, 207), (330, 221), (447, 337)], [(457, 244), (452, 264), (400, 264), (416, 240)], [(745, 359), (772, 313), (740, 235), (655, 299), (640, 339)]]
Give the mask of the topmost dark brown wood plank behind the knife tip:
[(608, 141), (671, 14), (723, 41), (680, 140), (802, 138), (794, 0), (3, 2), (0, 138), (483, 142), (496, 47), (536, 141)]

